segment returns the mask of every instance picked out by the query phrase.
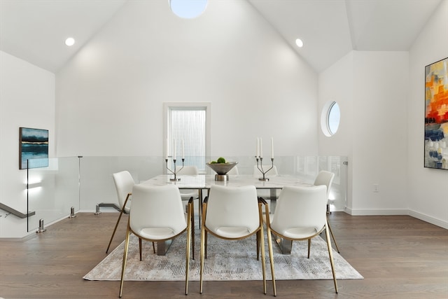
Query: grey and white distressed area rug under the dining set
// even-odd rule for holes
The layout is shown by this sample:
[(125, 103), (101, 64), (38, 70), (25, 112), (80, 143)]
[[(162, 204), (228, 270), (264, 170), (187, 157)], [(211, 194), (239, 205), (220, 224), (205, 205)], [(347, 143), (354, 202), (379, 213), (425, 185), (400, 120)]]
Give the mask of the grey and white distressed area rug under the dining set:
[[(269, 254), (266, 247), (266, 274), (271, 279)], [(200, 279), (200, 235), (195, 235), (195, 260), (190, 259), (190, 281)], [(225, 241), (209, 235), (204, 280), (262, 280), (261, 260), (256, 258), (255, 237)], [(157, 246), (157, 245), (156, 245)], [(125, 280), (127, 281), (183, 281), (185, 280), (186, 234), (174, 239), (165, 256), (153, 253), (150, 242), (143, 242), (143, 259), (139, 258), (139, 242), (131, 235)], [(307, 242), (293, 242), (291, 254), (282, 254), (272, 244), (276, 279), (332, 279), (326, 242), (321, 237), (311, 241), (311, 256), (307, 258)], [(88, 272), (87, 280), (120, 280), (124, 242)], [(337, 279), (363, 279), (349, 263), (333, 251)]]

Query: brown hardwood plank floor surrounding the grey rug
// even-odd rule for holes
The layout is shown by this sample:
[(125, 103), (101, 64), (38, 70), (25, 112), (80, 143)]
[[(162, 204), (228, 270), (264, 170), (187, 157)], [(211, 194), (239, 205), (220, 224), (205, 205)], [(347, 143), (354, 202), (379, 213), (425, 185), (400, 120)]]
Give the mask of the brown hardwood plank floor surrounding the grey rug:
[[(106, 256), (118, 214), (80, 213), (25, 240), (0, 239), (0, 297), (118, 298), (119, 281), (85, 281)], [(123, 241), (123, 216), (111, 244)], [(365, 277), (276, 281), (277, 298), (448, 298), (448, 230), (410, 216), (332, 213), (341, 255)], [(197, 254), (199, 256), (199, 254)], [(267, 284), (272, 298), (272, 285)], [(267, 298), (260, 281), (125, 281), (123, 298)]]

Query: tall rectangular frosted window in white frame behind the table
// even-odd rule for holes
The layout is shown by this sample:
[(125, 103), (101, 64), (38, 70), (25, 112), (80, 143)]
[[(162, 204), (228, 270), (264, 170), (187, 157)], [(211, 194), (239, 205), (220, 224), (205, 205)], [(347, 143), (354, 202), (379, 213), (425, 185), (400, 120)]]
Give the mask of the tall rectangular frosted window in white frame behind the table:
[[(185, 165), (195, 165), (200, 173), (205, 168), (206, 157), (209, 155), (209, 103), (167, 103), (165, 136), (169, 155), (174, 153), (176, 143), (176, 166), (182, 165), (182, 155), (185, 155)], [(182, 148), (183, 141), (183, 148)]]

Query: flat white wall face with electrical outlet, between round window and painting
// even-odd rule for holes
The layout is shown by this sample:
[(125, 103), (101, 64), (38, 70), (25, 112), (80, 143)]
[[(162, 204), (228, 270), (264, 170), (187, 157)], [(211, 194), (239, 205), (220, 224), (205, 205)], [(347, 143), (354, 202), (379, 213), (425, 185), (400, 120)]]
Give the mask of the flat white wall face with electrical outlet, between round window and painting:
[(407, 214), (408, 54), (354, 52), (353, 67), (351, 214)]

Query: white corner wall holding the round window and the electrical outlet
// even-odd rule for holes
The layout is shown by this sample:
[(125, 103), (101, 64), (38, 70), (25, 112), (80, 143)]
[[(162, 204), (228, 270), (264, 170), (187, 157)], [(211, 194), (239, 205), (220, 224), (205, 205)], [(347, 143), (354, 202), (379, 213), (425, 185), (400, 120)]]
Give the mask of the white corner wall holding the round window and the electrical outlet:
[(349, 156), (350, 214), (407, 214), (407, 62), (406, 52), (352, 51), (319, 75), (319, 109), (341, 110), (337, 133), (319, 132), (319, 154)]

